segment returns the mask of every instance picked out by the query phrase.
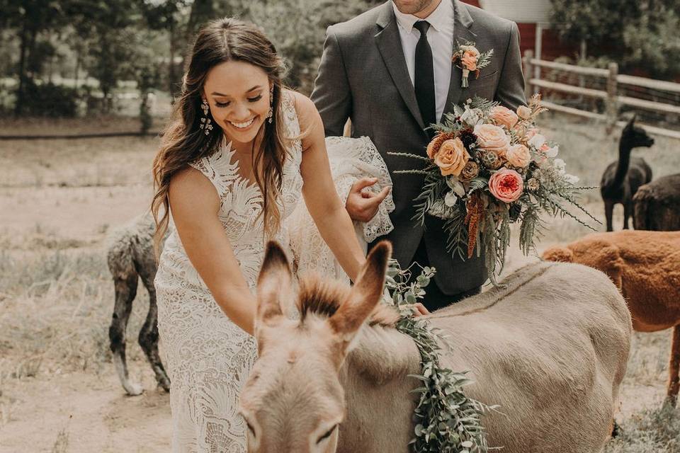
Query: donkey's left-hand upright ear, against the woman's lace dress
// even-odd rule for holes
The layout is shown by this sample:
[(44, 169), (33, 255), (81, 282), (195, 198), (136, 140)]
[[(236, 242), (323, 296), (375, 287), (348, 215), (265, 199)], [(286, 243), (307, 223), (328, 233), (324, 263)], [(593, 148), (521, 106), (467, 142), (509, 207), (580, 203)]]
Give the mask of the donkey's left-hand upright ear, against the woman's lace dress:
[(278, 243), (269, 241), (257, 279), (257, 315), (255, 325), (282, 316), (281, 297), (290, 294), (290, 264)]

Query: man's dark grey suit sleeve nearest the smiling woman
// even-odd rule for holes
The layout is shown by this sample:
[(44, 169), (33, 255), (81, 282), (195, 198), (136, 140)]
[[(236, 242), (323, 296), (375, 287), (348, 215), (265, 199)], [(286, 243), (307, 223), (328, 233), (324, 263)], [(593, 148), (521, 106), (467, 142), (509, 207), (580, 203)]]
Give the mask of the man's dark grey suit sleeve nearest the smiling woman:
[(332, 27), (326, 32), (324, 53), (311, 98), (321, 114), (326, 137), (341, 136), (351, 115), (352, 94), (338, 38)]

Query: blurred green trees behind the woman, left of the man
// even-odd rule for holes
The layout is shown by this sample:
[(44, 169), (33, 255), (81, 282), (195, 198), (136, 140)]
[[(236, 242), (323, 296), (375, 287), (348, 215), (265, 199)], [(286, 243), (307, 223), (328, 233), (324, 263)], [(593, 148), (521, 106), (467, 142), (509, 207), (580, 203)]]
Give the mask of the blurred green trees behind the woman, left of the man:
[[(327, 26), (381, 3), (382, 0), (0, 0), (0, 71), (18, 82), (14, 85), (18, 89), (11, 88), (16, 96), (5, 98), (16, 98), (17, 115), (28, 114), (22, 108), (28, 105), (29, 84), (45, 85), (54, 73), (74, 80), (77, 88), (83, 71), (98, 81), (104, 110), (112, 107), (111, 99), (120, 81), (137, 81), (142, 98), (152, 88), (176, 95), (181, 86), (181, 59), (193, 45), (196, 33), (206, 22), (225, 16), (259, 25), (288, 64), (286, 83), (310, 93)], [(74, 96), (82, 96), (88, 89), (77, 88)], [(88, 96), (89, 101), (94, 99)], [(40, 100), (33, 101), (31, 105), (40, 105)], [(70, 104), (62, 107), (55, 111), (70, 114), (73, 110)]]

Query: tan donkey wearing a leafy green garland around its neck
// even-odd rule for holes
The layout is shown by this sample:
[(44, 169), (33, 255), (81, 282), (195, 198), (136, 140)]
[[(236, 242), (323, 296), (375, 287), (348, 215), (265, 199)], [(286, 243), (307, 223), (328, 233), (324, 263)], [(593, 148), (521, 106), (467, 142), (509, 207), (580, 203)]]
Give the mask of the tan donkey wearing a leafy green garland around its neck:
[[(356, 285), (304, 277), (297, 308), (283, 250), (269, 243), (259, 275), (259, 360), (241, 394), (250, 453), (409, 452), (420, 356), (378, 306), (391, 247), (373, 248)], [(538, 263), (496, 288), (436, 311), (455, 350), (441, 362), (469, 369), (468, 396), (501, 405), (482, 422), (508, 453), (594, 453), (613, 420), (630, 346), (630, 315), (603, 273)], [(376, 309), (376, 307), (378, 307)], [(377, 311), (376, 311), (377, 310)], [(373, 314), (371, 323), (365, 321)]]

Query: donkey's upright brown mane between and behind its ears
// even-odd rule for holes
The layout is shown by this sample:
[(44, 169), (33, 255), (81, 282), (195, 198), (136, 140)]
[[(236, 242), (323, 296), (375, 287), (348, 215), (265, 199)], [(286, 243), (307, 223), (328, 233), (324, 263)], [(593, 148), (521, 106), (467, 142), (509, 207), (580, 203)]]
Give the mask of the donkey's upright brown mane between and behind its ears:
[[(317, 314), (330, 318), (348, 301), (351, 287), (338, 280), (312, 273), (300, 278), (300, 292), (297, 296), (297, 309), (300, 321), (304, 322), (308, 314)], [(378, 304), (370, 316), (370, 325), (393, 327), (399, 321), (397, 310), (386, 304)]]

